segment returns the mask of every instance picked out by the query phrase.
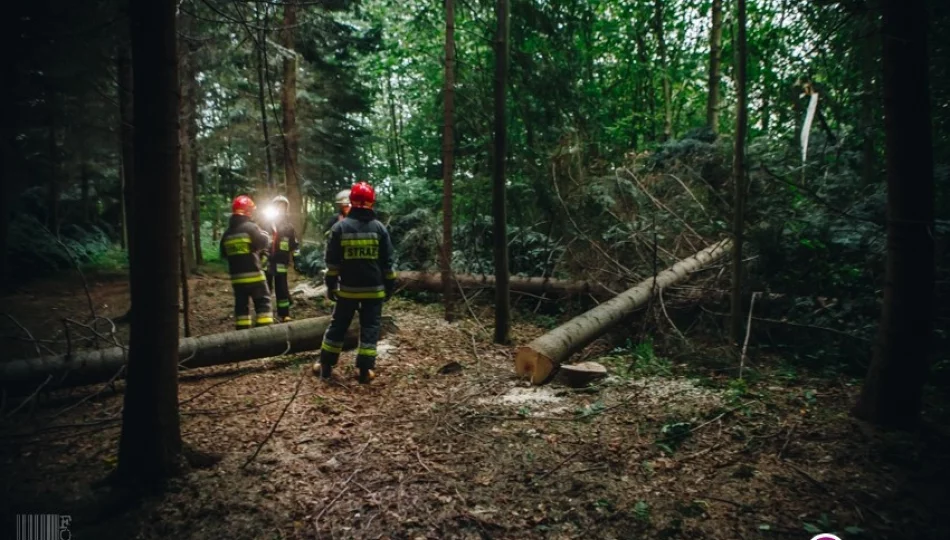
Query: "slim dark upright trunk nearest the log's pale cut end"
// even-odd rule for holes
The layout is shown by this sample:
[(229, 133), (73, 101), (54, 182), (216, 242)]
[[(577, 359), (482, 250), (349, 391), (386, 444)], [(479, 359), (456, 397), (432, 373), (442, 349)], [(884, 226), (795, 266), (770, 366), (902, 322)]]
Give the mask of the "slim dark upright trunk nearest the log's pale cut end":
[(505, 88), (508, 81), (508, 0), (497, 0), (495, 15), (495, 149), (492, 163), (492, 240), (495, 251), (495, 343), (510, 341), (511, 295), (508, 291), (508, 223), (505, 203), (507, 126)]

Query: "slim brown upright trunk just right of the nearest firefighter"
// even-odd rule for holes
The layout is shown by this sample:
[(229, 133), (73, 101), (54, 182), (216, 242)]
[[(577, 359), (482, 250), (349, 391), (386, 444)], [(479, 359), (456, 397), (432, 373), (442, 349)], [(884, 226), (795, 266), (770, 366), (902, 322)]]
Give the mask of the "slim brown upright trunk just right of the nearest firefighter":
[(442, 122), (442, 300), (445, 320), (454, 318), (452, 300), (452, 169), (455, 166), (455, 0), (445, 0), (445, 114)]

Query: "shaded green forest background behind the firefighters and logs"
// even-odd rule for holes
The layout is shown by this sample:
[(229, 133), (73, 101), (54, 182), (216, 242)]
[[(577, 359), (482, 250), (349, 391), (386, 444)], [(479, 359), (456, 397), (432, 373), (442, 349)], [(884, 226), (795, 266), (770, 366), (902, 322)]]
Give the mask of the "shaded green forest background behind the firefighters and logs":
[[(938, 291), (946, 300), (944, 4), (932, 0), (928, 9)], [(3, 157), (4, 283), (76, 265), (121, 270), (135, 181), (127, 166), (125, 7), (46, 0), (11, 9), (16, 31), (5, 32), (7, 50), (31, 53), (4, 60), (5, 72), (16, 74), (2, 96), (5, 136), (14, 141)], [(711, 31), (717, 9), (721, 36)], [(781, 319), (816, 329), (794, 348), (781, 338), (775, 347), (815, 367), (860, 375), (884, 274), (879, 18), (859, 0), (762, 0), (748, 10), (744, 289), (788, 299)], [(729, 231), (732, 3), (516, 0), (510, 20), (512, 273), (629, 283)], [(457, 4), (453, 264), (465, 273), (493, 271), (494, 27), (494, 2)], [(300, 268), (316, 275), (319, 229), (334, 212), (332, 197), (357, 179), (379, 188), (398, 267), (436, 268), (441, 4), (194, 0), (180, 4), (178, 28), (183, 241), (191, 270), (216, 264), (215, 240), (233, 196), (247, 192), (263, 202), (286, 192), (308, 240)], [(288, 88), (295, 99), (288, 101)], [(818, 108), (803, 162), (812, 92)], [(937, 305), (937, 346), (945, 353), (950, 314), (946, 301)], [(557, 316), (553, 309), (546, 313)], [(934, 366), (938, 382), (950, 377), (944, 353)]]

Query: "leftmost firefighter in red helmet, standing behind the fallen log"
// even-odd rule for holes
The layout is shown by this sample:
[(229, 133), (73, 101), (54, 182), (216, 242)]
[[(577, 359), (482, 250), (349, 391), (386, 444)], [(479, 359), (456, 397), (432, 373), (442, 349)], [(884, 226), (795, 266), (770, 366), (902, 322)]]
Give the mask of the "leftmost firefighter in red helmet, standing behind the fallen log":
[(228, 260), (231, 288), (234, 289), (234, 324), (238, 330), (251, 327), (248, 303), (254, 301), (257, 326), (272, 324), (270, 290), (261, 269), (261, 255), (270, 248), (271, 239), (251, 221), (254, 201), (240, 195), (231, 205), (228, 230), (221, 236), (221, 258)]

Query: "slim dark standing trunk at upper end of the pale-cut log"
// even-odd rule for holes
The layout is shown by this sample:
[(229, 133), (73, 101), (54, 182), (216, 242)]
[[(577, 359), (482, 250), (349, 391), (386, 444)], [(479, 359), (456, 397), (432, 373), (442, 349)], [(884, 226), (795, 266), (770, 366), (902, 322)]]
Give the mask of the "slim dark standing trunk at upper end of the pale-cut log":
[(735, 188), (732, 214), (732, 306), (729, 337), (739, 343), (742, 332), (742, 242), (745, 224), (745, 138), (749, 123), (746, 102), (746, 0), (736, 0), (736, 140), (732, 157), (732, 181)]

